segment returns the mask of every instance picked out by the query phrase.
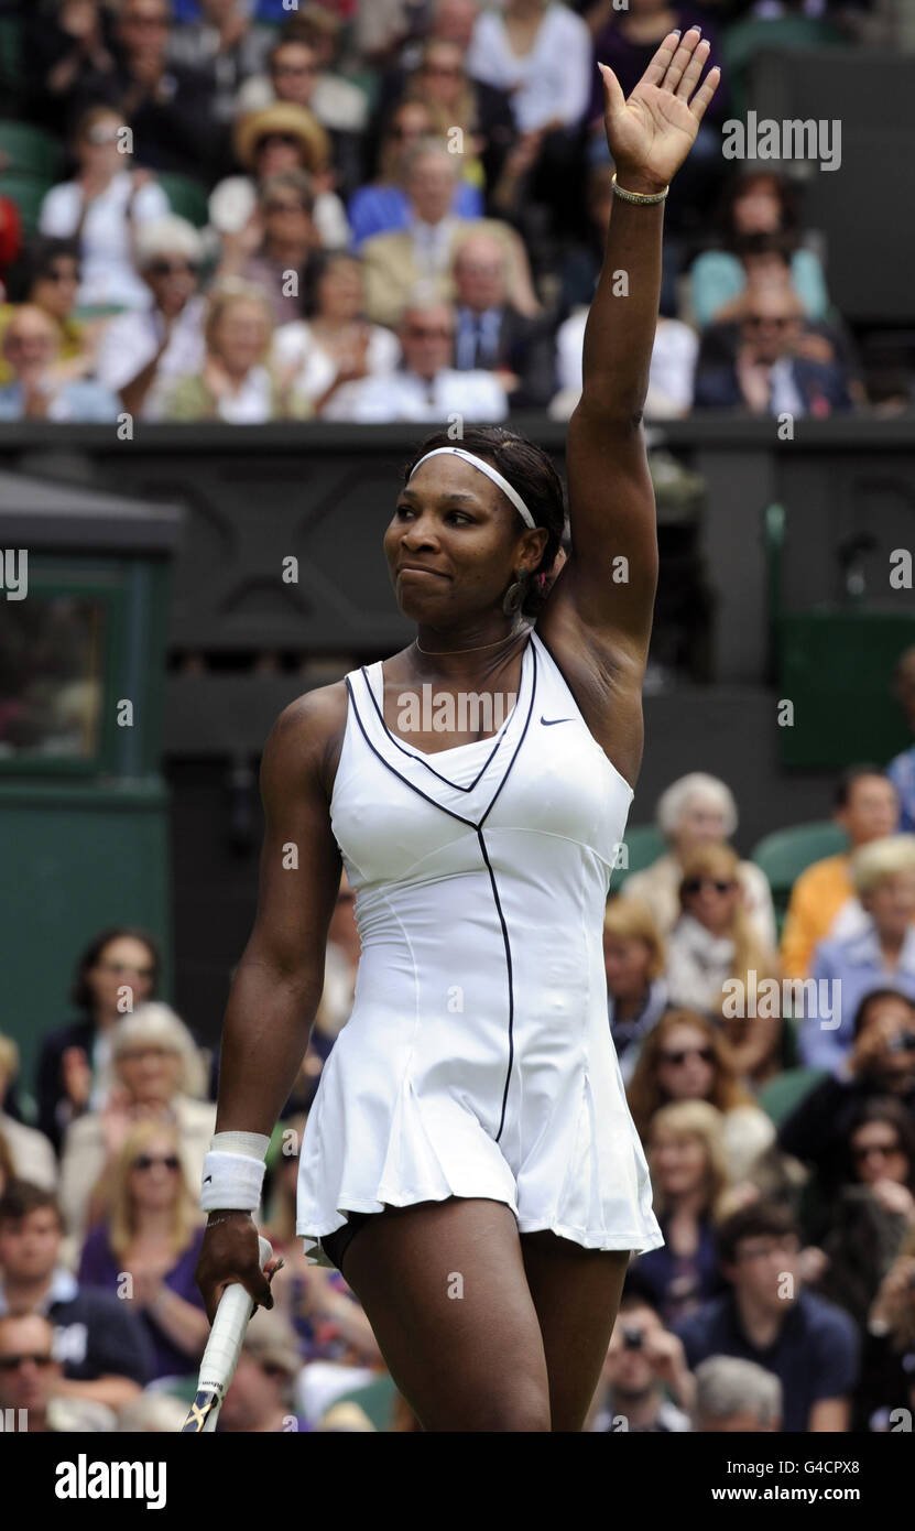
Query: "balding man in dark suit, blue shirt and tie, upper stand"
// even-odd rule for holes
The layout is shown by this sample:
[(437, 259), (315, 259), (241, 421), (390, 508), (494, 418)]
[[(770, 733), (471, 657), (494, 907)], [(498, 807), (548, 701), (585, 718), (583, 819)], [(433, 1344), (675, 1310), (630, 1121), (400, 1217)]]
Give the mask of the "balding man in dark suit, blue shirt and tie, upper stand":
[(491, 234), (468, 234), (454, 256), (459, 372), (494, 372), (516, 409), (545, 409), (555, 390), (552, 326), (528, 318), (505, 295), (505, 250)]

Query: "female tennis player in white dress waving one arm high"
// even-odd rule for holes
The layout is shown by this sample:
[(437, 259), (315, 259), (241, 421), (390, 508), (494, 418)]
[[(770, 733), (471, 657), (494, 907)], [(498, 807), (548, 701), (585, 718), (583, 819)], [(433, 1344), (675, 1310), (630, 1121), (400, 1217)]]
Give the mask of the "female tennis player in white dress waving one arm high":
[(571, 554), (536, 625), (555, 470), (511, 432), (442, 432), (384, 539), (416, 640), (301, 697), (265, 747), (197, 1278), (211, 1318), (233, 1281), (272, 1306), (251, 1213), (343, 863), (361, 960), (303, 1134), (297, 1231), (343, 1271), (430, 1431), (581, 1430), (629, 1252), (663, 1243), (601, 929), (643, 753), (663, 202), (718, 84), (707, 57), (698, 28), (670, 32), (629, 100), (603, 70), (617, 199), (569, 424)]

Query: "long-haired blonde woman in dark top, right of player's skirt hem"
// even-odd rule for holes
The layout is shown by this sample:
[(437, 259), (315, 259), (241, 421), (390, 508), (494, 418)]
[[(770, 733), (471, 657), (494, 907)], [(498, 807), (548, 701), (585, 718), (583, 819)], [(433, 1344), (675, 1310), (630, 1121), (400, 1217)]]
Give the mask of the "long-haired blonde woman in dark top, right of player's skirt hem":
[(673, 1324), (724, 1288), (715, 1249), (730, 1183), (722, 1113), (707, 1101), (663, 1105), (652, 1118), (647, 1153), (664, 1246), (635, 1262), (630, 1283)]

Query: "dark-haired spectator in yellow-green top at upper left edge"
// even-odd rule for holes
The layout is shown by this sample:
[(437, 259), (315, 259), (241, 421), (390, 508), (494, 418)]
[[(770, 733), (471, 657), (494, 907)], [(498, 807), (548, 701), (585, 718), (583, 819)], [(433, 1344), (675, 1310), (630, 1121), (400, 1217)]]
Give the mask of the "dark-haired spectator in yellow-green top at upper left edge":
[[(11, 282), (11, 297), (40, 308), (58, 331), (57, 371), (67, 378), (87, 377), (95, 367), (98, 326), (73, 318), (80, 292), (80, 246), (73, 239), (38, 236), (26, 250)], [(15, 314), (15, 302), (0, 308), (0, 335)], [(0, 361), (0, 386), (12, 381), (12, 367)]]

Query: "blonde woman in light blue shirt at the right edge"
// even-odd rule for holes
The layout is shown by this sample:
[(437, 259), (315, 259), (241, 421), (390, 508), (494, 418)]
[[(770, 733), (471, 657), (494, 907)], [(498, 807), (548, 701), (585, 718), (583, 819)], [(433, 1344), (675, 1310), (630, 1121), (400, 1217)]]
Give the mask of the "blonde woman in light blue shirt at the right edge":
[[(898, 989), (915, 1000), (915, 834), (861, 845), (849, 874), (866, 922), (855, 935), (814, 949), (816, 1004), (811, 995), (800, 1030), (803, 1061), (832, 1072), (851, 1052), (855, 1010), (871, 989)], [(823, 1018), (838, 1024), (823, 1026)]]

